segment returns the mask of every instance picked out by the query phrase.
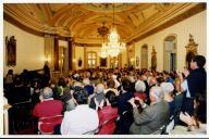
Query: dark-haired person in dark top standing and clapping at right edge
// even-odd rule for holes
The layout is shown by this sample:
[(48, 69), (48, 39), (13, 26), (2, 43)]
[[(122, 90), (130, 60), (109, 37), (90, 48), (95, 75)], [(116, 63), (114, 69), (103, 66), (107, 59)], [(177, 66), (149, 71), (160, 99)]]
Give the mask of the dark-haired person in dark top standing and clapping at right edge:
[(181, 77), (182, 88), (185, 91), (186, 96), (183, 100), (183, 112), (187, 112), (190, 116), (194, 113), (194, 98), (196, 96), (205, 96), (206, 97), (206, 70), (204, 65), (206, 63), (206, 59), (202, 55), (195, 55), (190, 62), (190, 73), (185, 68), (184, 75), (186, 76), (183, 81), (182, 74), (179, 74)]

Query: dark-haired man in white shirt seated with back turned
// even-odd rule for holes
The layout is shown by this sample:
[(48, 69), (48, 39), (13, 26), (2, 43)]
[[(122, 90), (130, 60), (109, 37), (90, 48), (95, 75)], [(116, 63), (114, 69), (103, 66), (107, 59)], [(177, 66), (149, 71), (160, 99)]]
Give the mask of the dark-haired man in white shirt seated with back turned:
[(94, 134), (99, 126), (99, 118), (96, 110), (87, 104), (88, 92), (78, 90), (73, 93), (76, 103), (75, 110), (64, 113), (61, 124), (62, 135), (85, 135)]

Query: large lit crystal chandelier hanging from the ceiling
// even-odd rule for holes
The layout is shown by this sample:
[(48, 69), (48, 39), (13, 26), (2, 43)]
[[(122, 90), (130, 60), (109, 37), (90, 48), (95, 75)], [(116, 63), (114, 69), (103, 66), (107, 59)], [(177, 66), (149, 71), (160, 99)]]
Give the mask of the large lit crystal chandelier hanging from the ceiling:
[(114, 27), (114, 4), (113, 4), (113, 27), (108, 36), (108, 42), (103, 42), (99, 55), (101, 58), (118, 56), (120, 52), (125, 50), (125, 43), (120, 42), (120, 36)]

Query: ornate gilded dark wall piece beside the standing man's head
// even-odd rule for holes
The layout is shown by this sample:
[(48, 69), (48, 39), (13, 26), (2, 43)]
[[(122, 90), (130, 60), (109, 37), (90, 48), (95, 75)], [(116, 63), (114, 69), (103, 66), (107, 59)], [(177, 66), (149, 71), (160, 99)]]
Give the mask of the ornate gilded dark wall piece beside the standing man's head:
[(186, 68), (190, 71), (190, 61), (197, 54), (197, 43), (193, 39), (193, 35), (189, 34), (188, 43), (186, 45)]

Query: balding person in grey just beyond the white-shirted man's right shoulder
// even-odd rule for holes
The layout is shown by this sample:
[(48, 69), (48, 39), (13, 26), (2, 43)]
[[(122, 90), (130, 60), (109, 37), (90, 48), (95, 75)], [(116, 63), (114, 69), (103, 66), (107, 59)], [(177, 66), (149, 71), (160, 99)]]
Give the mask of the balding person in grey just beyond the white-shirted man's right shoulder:
[(104, 91), (103, 84), (98, 84), (96, 87), (95, 96), (90, 99), (89, 108), (96, 109), (95, 99), (99, 102), (99, 104), (101, 103), (102, 100), (106, 99), (103, 91)]

